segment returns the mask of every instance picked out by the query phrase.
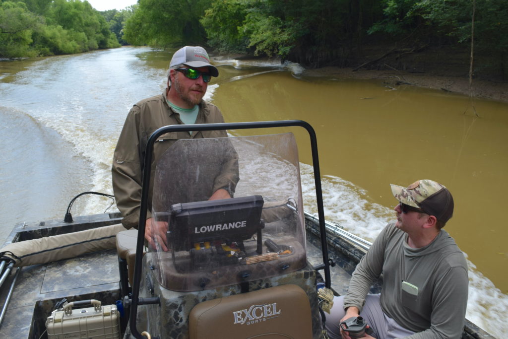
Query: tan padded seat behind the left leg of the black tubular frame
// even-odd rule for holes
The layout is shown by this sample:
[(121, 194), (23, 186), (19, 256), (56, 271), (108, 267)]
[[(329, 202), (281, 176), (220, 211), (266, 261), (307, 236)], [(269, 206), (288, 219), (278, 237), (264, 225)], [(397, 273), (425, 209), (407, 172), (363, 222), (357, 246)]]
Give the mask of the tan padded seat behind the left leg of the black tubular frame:
[(137, 229), (132, 228), (116, 234), (116, 251), (118, 253), (120, 288), (122, 289), (122, 295), (126, 295), (124, 292), (128, 291), (129, 285), (132, 286), (133, 284), (137, 242)]

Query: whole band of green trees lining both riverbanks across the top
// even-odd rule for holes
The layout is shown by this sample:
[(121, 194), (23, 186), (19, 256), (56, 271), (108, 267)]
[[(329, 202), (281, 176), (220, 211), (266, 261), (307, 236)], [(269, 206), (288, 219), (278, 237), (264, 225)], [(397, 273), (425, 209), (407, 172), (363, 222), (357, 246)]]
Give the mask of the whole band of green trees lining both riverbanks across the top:
[(101, 13), (80, 0), (0, 1), (0, 57), (199, 44), (346, 66), (373, 43), (466, 51), (474, 38), (508, 78), (506, 0), (139, 0)]

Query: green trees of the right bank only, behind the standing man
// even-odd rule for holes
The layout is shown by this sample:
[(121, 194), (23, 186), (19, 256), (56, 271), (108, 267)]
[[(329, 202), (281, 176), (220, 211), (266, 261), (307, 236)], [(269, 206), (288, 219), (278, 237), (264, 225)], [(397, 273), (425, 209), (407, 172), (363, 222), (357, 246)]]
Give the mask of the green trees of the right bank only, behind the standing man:
[(373, 42), (469, 48), (473, 1), (478, 51), (495, 54), (508, 76), (506, 0), (139, 0), (125, 39), (345, 66)]

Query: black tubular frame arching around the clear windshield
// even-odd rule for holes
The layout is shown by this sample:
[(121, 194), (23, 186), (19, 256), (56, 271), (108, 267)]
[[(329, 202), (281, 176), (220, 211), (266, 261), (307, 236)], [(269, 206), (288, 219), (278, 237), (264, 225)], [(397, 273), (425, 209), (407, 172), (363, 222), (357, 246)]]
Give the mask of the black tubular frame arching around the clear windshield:
[[(323, 191), (321, 189), (321, 173), (319, 168), (319, 157), (317, 156), (317, 139), (312, 126), (302, 120), (281, 120), (281, 121), (259, 121), (259, 122), (231, 122), (223, 124), (196, 124), (196, 125), (172, 125), (161, 127), (152, 133), (146, 145), (144, 168), (143, 168), (143, 190), (141, 191), (141, 211), (139, 214), (138, 240), (136, 244), (136, 260), (134, 264), (134, 281), (132, 289), (131, 313), (129, 316), (129, 327), (131, 334), (138, 339), (143, 339), (136, 327), (136, 316), (139, 299), (139, 289), (141, 282), (141, 265), (143, 259), (143, 245), (145, 239), (146, 211), (148, 207), (148, 188), (150, 187), (150, 172), (152, 163), (153, 144), (164, 133), (169, 132), (188, 132), (188, 131), (222, 131), (222, 130), (245, 130), (276, 127), (303, 127), (307, 130), (310, 137), (310, 146), (312, 150), (312, 166), (314, 168), (314, 181), (317, 201), (317, 214), (319, 217), (319, 226), (321, 233), (321, 249), (323, 252), (323, 263), (325, 273), (325, 286), (330, 288), (330, 262), (328, 258), (328, 244), (326, 241), (325, 212), (323, 208)], [(143, 302), (144, 303), (144, 302)]]

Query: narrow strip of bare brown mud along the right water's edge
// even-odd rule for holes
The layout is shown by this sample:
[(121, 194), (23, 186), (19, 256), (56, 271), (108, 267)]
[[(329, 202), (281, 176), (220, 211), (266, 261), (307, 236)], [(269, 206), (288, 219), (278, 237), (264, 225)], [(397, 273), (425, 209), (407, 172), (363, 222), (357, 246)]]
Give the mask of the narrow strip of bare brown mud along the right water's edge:
[[(398, 85), (413, 85), (424, 88), (439, 89), (466, 96), (469, 95), (469, 79), (461, 76), (411, 73), (398, 70), (378, 71), (360, 69), (354, 71), (353, 68), (338, 67), (306, 69), (302, 75), (324, 76), (337, 79), (383, 80), (394, 88), (397, 88)], [(475, 98), (490, 99), (508, 103), (508, 82), (473, 79), (472, 95)]]

